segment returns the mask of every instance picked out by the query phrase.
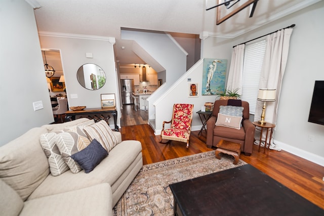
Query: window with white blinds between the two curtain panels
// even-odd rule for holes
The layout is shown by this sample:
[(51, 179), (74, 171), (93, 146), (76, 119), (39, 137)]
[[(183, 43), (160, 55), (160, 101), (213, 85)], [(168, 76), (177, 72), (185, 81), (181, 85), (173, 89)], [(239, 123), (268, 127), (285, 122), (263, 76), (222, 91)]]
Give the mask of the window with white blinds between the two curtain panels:
[(257, 104), (265, 48), (265, 39), (245, 46), (241, 99), (249, 102), (250, 114), (253, 115)]

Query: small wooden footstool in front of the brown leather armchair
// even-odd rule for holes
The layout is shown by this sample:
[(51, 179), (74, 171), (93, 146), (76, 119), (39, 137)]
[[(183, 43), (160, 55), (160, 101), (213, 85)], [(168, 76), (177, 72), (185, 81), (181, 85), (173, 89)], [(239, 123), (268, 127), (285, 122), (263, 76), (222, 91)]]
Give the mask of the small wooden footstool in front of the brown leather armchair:
[(224, 153), (228, 155), (232, 155), (234, 157), (233, 164), (237, 164), (239, 160), (239, 154), (241, 153), (241, 145), (239, 143), (227, 141), (221, 139), (217, 144), (217, 149), (215, 151), (215, 155), (217, 159), (221, 159), (219, 153)]

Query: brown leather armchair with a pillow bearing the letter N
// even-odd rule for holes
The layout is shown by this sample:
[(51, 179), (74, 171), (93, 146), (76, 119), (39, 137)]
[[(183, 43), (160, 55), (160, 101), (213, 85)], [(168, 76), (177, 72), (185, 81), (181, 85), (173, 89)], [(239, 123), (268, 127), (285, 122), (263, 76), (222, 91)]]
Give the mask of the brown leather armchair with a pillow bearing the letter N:
[(238, 129), (216, 126), (217, 115), (219, 113), (219, 106), (226, 106), (228, 100), (216, 100), (214, 103), (214, 110), (212, 117), (207, 121), (207, 140), (206, 144), (208, 148), (212, 146), (216, 147), (221, 139), (240, 143), (241, 152), (250, 156), (252, 154), (255, 127), (249, 120), (250, 110), (249, 103), (247, 101), (241, 101), (241, 106), (244, 107), (242, 116), (242, 127)]

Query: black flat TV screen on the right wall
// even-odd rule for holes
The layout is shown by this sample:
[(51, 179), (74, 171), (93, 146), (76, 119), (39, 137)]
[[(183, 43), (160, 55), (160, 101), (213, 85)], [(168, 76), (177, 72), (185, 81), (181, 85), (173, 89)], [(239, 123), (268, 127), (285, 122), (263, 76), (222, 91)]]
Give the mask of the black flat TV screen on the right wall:
[(324, 125), (324, 81), (315, 81), (308, 122)]

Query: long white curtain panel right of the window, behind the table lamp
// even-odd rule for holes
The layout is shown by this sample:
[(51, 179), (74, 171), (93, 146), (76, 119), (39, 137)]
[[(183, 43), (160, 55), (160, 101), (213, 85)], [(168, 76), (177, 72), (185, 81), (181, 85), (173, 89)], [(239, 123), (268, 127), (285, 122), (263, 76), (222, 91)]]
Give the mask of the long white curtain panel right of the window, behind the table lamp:
[[(285, 74), (292, 32), (292, 28), (286, 28), (267, 36), (267, 47), (261, 70), (259, 88), (276, 89), (276, 99), (274, 102), (266, 103), (265, 113), (265, 121), (273, 124), (276, 124), (281, 83)], [(259, 121), (261, 119), (263, 103), (263, 101), (257, 101), (254, 121)], [(265, 133), (262, 135), (264, 135), (262, 139), (265, 139)], [(255, 137), (259, 140), (260, 134), (256, 133)], [(276, 149), (272, 140), (270, 149)]]

